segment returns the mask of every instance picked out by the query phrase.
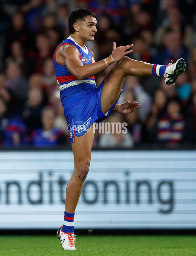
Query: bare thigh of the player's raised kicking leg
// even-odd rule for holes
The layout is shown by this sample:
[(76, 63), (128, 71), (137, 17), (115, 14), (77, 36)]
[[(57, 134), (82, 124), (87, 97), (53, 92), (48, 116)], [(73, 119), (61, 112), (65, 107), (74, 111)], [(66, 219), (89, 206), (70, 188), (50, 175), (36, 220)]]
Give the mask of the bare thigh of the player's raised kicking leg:
[(101, 108), (104, 114), (107, 113), (118, 99), (125, 76), (121, 63), (119, 62), (115, 63), (106, 75), (101, 95)]

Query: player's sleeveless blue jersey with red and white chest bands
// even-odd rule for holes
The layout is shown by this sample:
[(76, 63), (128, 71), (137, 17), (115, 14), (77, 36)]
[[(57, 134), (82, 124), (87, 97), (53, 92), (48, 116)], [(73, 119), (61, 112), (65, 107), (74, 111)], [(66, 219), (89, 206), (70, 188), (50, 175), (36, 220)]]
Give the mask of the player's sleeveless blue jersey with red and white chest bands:
[(91, 50), (86, 45), (86, 49), (83, 49), (75, 42), (75, 40), (71, 36), (69, 36), (57, 46), (53, 54), (53, 63), (63, 106), (70, 100), (81, 98), (86, 94), (94, 92), (97, 89), (94, 75), (85, 78), (84, 80), (78, 80), (74, 75), (69, 72), (65, 65), (60, 65), (57, 63), (55, 53), (59, 46), (66, 44), (74, 45), (77, 48), (80, 53), (80, 60), (82, 61), (83, 65), (95, 62)]

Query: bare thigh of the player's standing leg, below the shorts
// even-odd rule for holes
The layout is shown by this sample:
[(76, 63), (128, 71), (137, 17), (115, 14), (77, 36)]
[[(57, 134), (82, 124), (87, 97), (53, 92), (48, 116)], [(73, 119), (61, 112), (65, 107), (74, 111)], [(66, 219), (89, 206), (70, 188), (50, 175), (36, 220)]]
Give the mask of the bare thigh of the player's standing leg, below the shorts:
[(93, 125), (81, 137), (75, 136), (74, 143), (72, 143), (75, 167), (85, 164), (90, 165), (91, 148), (94, 139)]

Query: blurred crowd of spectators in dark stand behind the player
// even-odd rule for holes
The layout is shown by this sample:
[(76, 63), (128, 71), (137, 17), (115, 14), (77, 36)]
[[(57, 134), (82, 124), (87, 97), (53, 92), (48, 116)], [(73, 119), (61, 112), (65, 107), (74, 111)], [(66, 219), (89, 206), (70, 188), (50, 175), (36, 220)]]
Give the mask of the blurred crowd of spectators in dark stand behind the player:
[[(137, 100), (132, 114), (105, 122), (127, 123), (127, 133), (100, 134), (93, 148), (196, 145), (196, 1), (194, 0), (0, 0), (0, 148), (70, 145), (52, 56), (69, 36), (68, 16), (78, 7), (97, 15), (95, 61), (113, 42), (134, 44), (130, 58), (157, 64), (187, 62), (176, 84), (127, 76), (119, 103)], [(99, 85), (109, 72), (97, 74)], [(114, 129), (116, 131), (116, 129)]]

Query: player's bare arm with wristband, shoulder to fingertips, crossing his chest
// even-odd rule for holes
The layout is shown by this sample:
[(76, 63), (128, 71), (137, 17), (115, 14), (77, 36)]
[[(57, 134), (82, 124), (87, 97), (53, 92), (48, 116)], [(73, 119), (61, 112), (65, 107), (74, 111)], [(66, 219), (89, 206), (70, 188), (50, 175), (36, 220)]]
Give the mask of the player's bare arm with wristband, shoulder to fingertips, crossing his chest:
[[(121, 46), (116, 48), (114, 43), (113, 51), (111, 56), (114, 62), (119, 61), (124, 55), (132, 52), (132, 50), (125, 52), (133, 45)], [(106, 58), (108, 65), (111, 65), (113, 59), (111, 56)], [(85, 79), (87, 77), (93, 76), (107, 67), (105, 60), (100, 60), (98, 62), (90, 63), (88, 65), (83, 65), (80, 60), (80, 53), (77, 48), (73, 45), (62, 45), (57, 49), (55, 53), (55, 58), (58, 64), (66, 65), (69, 72), (74, 75), (78, 80)]]

